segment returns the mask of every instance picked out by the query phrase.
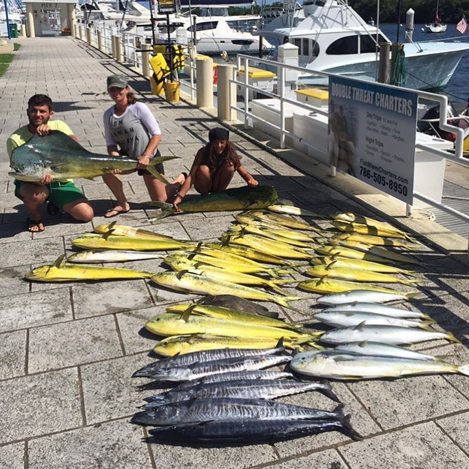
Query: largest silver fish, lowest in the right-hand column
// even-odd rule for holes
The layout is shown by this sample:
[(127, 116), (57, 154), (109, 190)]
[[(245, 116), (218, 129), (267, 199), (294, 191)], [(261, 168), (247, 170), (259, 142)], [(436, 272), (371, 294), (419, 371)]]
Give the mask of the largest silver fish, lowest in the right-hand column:
[(397, 357), (373, 357), (335, 351), (295, 355), (291, 368), (302, 375), (333, 379), (398, 378), (410, 375), (459, 373), (469, 376), (469, 365)]

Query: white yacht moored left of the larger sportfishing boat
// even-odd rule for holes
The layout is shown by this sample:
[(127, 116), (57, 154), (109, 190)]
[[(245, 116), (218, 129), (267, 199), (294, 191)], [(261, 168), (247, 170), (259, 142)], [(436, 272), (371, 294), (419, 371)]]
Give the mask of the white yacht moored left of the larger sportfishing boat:
[[(245, 23), (251, 17), (175, 17), (169, 23), (169, 38), (176, 41), (176, 29), (183, 28), (187, 34), (187, 40), (194, 43), (197, 52), (206, 55), (227, 54), (263, 54), (273, 50), (273, 45), (267, 40), (261, 41), (260, 37), (251, 32), (233, 28), (236, 23)], [(165, 41), (168, 37), (168, 25), (166, 21), (156, 23), (160, 39)], [(180, 36), (178, 36), (180, 38)]]

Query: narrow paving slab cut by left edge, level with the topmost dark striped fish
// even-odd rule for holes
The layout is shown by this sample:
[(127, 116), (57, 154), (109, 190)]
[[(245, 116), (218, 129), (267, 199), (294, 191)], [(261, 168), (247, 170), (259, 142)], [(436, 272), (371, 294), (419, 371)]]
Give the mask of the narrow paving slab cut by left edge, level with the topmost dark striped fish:
[(0, 334), (0, 379), (25, 374), (26, 331)]

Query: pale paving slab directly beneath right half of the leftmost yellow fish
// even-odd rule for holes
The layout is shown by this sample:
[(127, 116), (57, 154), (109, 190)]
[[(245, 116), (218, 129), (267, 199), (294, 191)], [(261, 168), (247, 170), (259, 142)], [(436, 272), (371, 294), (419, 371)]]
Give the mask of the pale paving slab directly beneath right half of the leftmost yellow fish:
[[(127, 264), (115, 267), (132, 269)], [(145, 280), (83, 282), (72, 287), (72, 294), (77, 319), (140, 309), (153, 304)]]

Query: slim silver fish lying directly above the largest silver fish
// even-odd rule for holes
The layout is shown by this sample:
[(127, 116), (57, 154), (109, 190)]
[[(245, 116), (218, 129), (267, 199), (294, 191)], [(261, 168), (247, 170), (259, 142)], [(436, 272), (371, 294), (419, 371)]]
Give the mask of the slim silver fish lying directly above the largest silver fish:
[(434, 360), (441, 362), (446, 355), (433, 356), (426, 353), (409, 350), (398, 345), (383, 344), (382, 342), (349, 342), (334, 348), (337, 353), (352, 353), (353, 355), (371, 355), (373, 357), (394, 357), (417, 360)]

